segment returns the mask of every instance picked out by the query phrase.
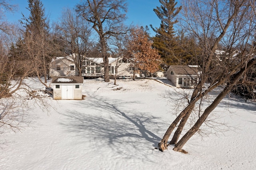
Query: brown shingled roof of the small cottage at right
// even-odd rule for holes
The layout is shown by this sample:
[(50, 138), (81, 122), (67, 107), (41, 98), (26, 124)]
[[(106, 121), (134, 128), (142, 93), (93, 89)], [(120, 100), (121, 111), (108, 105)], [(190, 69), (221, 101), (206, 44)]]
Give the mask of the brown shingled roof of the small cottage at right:
[(176, 75), (197, 75), (201, 67), (196, 65), (171, 65), (169, 67)]

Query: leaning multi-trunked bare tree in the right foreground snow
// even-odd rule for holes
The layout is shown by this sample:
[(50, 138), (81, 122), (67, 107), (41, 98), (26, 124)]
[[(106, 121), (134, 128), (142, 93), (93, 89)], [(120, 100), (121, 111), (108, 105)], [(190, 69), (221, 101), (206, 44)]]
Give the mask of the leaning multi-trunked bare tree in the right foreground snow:
[[(186, 107), (158, 144), (161, 151), (167, 149), (168, 139), (179, 122), (170, 144), (175, 144), (175, 151), (182, 151), (184, 144), (200, 130), (200, 126), (218, 103), (255, 64), (252, 45), (255, 36), (255, 1), (188, 0), (183, 2), (182, 7), (184, 10), (181, 26), (186, 28), (186, 34), (198, 42), (202, 55), (197, 59), (198, 61), (200, 59), (202, 73)], [(224, 47), (225, 53), (221, 56), (222, 59), (215, 55), (218, 47)], [(200, 109), (196, 123), (178, 141), (195, 105), (219, 85), (224, 86), (223, 90), (208, 107)]]

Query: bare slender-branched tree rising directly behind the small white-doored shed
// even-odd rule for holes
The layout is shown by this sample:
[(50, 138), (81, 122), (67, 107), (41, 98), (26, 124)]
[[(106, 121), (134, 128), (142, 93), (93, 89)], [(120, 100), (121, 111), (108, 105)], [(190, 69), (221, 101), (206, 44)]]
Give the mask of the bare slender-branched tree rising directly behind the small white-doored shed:
[(92, 48), (91, 28), (86, 20), (70, 9), (63, 10), (60, 23), (56, 31), (65, 43), (63, 55), (70, 55), (74, 60), (79, 76), (82, 75), (84, 57), (88, 57), (88, 51)]

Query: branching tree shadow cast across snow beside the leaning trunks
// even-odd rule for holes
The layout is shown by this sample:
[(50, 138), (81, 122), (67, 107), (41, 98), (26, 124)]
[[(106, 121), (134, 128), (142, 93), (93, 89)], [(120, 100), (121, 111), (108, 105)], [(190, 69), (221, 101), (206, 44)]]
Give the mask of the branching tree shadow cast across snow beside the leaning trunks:
[(134, 104), (138, 105), (138, 101), (128, 103), (92, 97), (72, 106), (74, 110), (61, 113), (68, 117), (65, 119), (68, 122), (62, 122), (62, 125), (75, 134), (96, 140), (97, 143), (107, 142), (113, 148), (129, 148), (127, 145), (130, 145), (139, 149), (141, 144), (147, 142), (152, 144), (152, 148), (157, 147), (161, 138), (155, 133), (161, 130), (158, 125), (162, 121), (149, 113), (141, 112), (140, 108), (131, 108)]

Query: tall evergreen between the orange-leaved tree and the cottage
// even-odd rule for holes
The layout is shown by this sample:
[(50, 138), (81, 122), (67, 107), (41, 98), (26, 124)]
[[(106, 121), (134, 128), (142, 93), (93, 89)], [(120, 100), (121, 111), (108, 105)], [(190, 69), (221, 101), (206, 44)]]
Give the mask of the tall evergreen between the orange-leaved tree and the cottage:
[(175, 40), (175, 31), (173, 25), (178, 22), (174, 20), (174, 17), (180, 12), (182, 6), (175, 7), (177, 2), (175, 0), (159, 0), (162, 4), (160, 7), (156, 7), (154, 12), (161, 20), (159, 28), (150, 27), (156, 32), (156, 36), (153, 37), (153, 47), (158, 49), (159, 54), (167, 65), (175, 64), (179, 62), (179, 58), (176, 55), (178, 48)]

